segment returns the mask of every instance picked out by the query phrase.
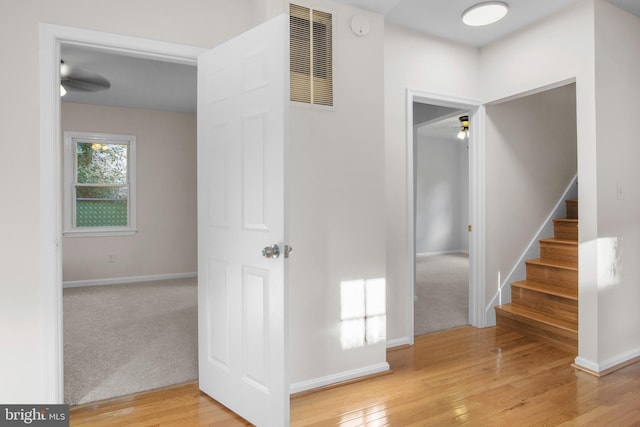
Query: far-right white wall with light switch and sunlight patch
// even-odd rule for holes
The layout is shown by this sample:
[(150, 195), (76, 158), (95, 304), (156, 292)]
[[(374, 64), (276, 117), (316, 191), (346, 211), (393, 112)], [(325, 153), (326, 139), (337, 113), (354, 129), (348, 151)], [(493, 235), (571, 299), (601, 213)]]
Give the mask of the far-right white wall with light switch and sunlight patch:
[[(606, 369), (640, 356), (640, 146), (626, 126), (629, 114), (640, 108), (640, 19), (598, 2), (595, 22), (598, 330), (593, 332), (597, 367)], [(579, 309), (582, 322), (582, 303)]]

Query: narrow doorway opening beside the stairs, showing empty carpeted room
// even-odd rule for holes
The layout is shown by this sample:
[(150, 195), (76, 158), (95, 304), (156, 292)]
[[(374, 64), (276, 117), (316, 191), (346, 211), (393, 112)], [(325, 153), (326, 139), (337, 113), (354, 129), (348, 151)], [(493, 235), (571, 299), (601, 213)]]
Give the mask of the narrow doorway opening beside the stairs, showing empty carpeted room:
[(414, 104), (414, 334), (469, 323), (468, 112)]

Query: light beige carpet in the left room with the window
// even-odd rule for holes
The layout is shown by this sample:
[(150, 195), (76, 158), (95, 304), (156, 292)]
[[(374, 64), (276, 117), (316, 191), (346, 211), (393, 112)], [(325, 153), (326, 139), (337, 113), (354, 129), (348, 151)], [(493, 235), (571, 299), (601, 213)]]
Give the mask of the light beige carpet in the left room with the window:
[(67, 288), (64, 401), (197, 379), (197, 279)]

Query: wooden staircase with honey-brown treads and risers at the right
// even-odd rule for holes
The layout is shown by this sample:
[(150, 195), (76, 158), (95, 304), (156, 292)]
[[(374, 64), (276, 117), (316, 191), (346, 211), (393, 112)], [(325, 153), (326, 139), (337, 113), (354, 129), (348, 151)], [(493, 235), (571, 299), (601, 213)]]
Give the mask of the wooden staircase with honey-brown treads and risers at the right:
[(511, 303), (496, 307), (496, 323), (578, 353), (578, 201), (540, 240), (540, 258), (525, 261), (527, 278), (511, 284)]

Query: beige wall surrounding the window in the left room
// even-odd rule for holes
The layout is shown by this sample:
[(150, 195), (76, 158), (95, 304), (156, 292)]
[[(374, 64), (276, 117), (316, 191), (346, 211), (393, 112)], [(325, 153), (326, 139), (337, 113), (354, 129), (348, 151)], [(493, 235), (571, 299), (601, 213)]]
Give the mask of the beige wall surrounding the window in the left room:
[(61, 124), (136, 136), (138, 227), (134, 236), (63, 238), (63, 280), (195, 273), (196, 115), (63, 102)]

